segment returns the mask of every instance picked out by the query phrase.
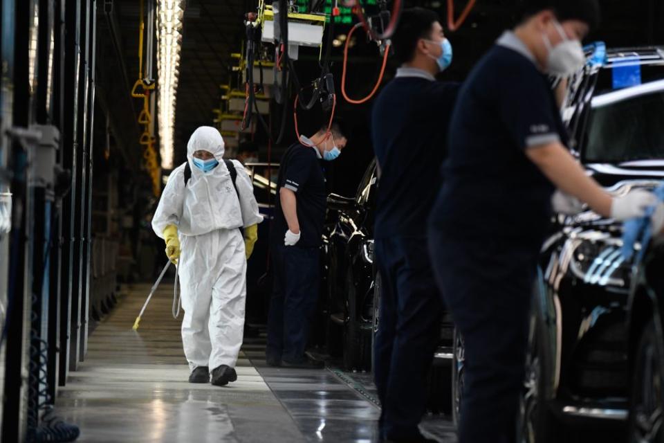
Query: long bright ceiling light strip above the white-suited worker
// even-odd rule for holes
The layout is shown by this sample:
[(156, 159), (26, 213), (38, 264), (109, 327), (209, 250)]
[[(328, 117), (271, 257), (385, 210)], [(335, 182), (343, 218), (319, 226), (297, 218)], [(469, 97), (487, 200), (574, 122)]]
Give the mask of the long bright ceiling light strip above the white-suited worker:
[(158, 0), (157, 69), (161, 167), (173, 169), (175, 98), (180, 71), (184, 3)]

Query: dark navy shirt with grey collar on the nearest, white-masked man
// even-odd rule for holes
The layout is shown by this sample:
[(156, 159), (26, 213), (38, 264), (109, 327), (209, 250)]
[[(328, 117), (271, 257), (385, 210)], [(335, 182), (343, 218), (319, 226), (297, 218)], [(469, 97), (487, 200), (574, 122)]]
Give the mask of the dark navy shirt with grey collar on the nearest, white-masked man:
[(505, 33), (459, 93), (431, 227), (539, 247), (554, 187), (525, 150), (566, 145), (566, 134), (546, 75), (521, 40)]

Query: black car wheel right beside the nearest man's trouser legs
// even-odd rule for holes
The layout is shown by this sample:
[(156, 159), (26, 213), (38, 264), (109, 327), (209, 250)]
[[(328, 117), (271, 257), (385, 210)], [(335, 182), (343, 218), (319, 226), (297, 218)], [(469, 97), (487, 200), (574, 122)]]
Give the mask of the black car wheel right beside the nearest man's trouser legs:
[(517, 419), (519, 443), (555, 443), (568, 441), (566, 431), (545, 403), (546, 380), (549, 379), (546, 330), (539, 318), (531, 318), (531, 332), (526, 354), (526, 377)]

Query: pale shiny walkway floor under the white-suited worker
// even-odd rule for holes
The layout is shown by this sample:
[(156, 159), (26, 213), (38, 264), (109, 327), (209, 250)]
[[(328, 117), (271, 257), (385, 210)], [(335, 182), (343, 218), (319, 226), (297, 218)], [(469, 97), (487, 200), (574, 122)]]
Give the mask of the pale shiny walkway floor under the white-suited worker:
[[(238, 380), (218, 388), (187, 383), (172, 286), (131, 327), (149, 284), (129, 287), (91, 335), (80, 370), (56, 400), (57, 414), (81, 428), (79, 442), (303, 442), (291, 415), (242, 352)], [(181, 314), (182, 316), (182, 314)]]

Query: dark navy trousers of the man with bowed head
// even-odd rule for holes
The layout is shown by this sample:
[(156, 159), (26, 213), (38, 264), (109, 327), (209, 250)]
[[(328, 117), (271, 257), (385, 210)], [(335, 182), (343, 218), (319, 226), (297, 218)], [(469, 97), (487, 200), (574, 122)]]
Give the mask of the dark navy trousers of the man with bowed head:
[(273, 246), (274, 287), (266, 354), (291, 363), (305, 358), (319, 292), (319, 248)]

